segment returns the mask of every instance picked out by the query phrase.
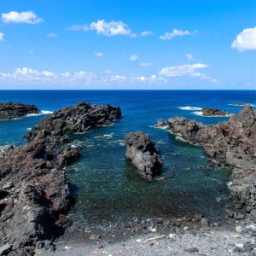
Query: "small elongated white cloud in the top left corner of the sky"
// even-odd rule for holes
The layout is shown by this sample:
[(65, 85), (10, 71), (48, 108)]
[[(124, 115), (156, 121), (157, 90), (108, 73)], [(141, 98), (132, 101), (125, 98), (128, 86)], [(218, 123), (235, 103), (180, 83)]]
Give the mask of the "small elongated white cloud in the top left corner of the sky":
[(4, 23), (27, 23), (27, 24), (38, 24), (44, 22), (44, 20), (32, 11), (26, 12), (15, 12), (10, 11), (8, 14), (2, 15)]

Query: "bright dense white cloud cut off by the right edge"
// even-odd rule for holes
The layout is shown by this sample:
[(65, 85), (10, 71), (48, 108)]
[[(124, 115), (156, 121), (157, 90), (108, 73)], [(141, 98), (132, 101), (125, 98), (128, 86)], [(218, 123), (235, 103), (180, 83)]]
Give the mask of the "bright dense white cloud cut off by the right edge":
[(256, 27), (246, 28), (240, 32), (231, 47), (239, 51), (256, 49)]

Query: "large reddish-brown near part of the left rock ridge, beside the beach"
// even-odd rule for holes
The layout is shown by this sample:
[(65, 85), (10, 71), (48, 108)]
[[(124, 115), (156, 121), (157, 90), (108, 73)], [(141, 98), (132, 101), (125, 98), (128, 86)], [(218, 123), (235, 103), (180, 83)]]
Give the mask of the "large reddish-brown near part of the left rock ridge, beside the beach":
[(24, 247), (61, 232), (71, 204), (65, 172), (44, 154), (44, 142), (34, 141), (0, 159), (0, 243), (8, 242), (20, 255), (29, 255)]

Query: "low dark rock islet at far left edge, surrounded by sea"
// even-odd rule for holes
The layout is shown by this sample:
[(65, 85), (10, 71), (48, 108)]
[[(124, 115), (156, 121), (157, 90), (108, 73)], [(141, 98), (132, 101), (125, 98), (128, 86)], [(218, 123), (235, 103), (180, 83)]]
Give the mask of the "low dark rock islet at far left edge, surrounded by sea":
[(31, 113), (41, 113), (41, 111), (34, 105), (7, 102), (0, 103), (0, 119), (9, 120), (24, 117)]

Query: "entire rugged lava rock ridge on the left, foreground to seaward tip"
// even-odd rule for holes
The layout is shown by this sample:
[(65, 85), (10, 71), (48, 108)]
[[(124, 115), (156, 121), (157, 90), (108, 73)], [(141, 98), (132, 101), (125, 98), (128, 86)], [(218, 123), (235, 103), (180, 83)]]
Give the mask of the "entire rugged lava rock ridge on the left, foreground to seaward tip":
[(119, 108), (79, 102), (43, 119), (26, 146), (0, 148), (0, 247), (8, 247), (9, 255), (52, 247), (51, 240), (68, 224), (65, 216), (73, 198), (63, 168), (79, 159), (81, 147), (60, 147), (70, 140), (66, 132), (108, 125), (120, 117)]

